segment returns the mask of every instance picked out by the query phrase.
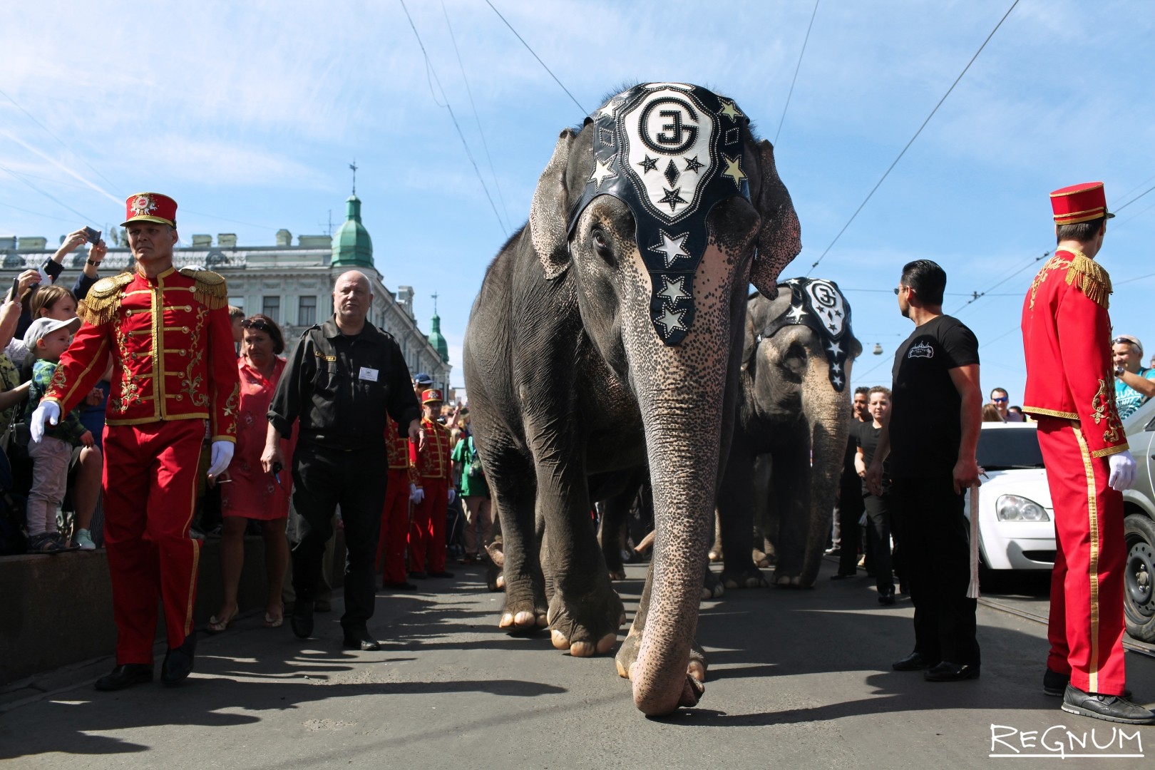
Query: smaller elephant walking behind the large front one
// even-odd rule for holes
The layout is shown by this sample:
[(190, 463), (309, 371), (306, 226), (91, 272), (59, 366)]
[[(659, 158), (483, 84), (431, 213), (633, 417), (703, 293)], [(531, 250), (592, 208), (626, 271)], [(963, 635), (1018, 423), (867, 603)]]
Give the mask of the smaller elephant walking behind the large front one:
[(751, 296), (742, 401), (718, 489), (725, 588), (765, 585), (755, 524), (774, 546), (774, 583), (813, 588), (850, 431), (850, 369), (862, 344), (832, 281), (792, 278)]

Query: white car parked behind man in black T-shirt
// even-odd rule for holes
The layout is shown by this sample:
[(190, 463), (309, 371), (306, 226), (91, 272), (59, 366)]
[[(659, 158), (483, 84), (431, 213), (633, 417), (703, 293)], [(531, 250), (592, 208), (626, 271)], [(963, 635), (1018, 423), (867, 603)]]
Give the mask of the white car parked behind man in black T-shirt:
[[(983, 423), (978, 465), (978, 543), (989, 569), (1055, 567), (1055, 510), (1034, 423)], [(970, 495), (966, 511), (970, 518)]]

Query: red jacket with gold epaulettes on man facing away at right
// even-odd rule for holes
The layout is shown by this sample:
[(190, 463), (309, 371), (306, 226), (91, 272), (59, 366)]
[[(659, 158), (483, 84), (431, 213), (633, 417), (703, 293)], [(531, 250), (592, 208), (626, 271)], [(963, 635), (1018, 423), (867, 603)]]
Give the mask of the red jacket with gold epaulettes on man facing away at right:
[(1035, 276), (1022, 305), (1027, 358), (1023, 411), (1079, 420), (1093, 457), (1127, 448), (1115, 408), (1111, 278), (1080, 252), (1058, 251)]

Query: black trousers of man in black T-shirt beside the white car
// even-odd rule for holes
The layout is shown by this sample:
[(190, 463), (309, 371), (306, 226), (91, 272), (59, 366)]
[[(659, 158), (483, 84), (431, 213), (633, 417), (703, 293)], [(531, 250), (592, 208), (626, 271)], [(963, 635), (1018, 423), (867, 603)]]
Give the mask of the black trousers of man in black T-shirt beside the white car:
[(951, 477), (899, 478), (891, 513), (902, 531), (903, 581), (915, 604), (915, 652), (930, 661), (979, 665), (970, 583), (970, 526)]

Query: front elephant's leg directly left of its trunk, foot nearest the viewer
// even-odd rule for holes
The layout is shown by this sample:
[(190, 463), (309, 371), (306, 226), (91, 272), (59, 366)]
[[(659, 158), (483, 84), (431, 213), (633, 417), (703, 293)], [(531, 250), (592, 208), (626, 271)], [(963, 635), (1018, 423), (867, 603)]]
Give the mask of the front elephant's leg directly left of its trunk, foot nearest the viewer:
[(573, 464), (551, 463), (538, 466), (537, 479), (553, 586), (546, 614), (553, 646), (580, 658), (609, 652), (625, 608), (594, 532), (584, 473)]

